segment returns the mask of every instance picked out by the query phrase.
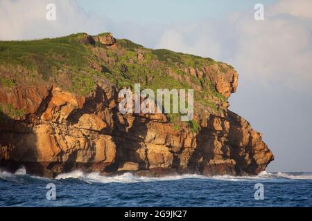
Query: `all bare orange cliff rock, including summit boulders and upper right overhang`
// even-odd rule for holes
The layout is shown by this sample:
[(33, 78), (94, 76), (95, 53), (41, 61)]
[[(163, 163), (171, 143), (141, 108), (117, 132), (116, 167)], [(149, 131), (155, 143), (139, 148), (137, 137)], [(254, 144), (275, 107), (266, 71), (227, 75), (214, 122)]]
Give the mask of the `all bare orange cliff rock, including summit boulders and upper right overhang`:
[[(123, 49), (122, 42), (116, 43), (111, 35), (87, 36), (86, 41), (98, 61), (89, 64), (92, 70), (114, 73), (116, 61), (107, 54)], [(96, 42), (104, 49), (98, 50)], [(135, 56), (134, 63), (140, 64), (148, 54), (140, 48)], [(55, 81), (26, 85), (16, 79), (12, 85), (8, 81), (0, 85), (0, 168), (14, 172), (24, 165), (27, 173), (47, 177), (75, 169), (153, 176), (255, 175), (266, 169), (273, 155), (261, 134), (227, 109), (227, 98), (237, 87), (236, 71), (226, 64), (178, 66), (177, 70), (159, 60), (148, 65), (164, 66), (164, 75), (181, 84), (187, 82), (210, 102), (196, 102), (196, 130), (164, 114), (122, 115), (118, 109), (121, 86), (108, 77), (96, 76), (92, 90), (85, 94)], [(101, 64), (106, 65), (104, 71)], [(130, 73), (131, 64), (123, 63), (123, 74)], [(3, 76), (8, 76), (6, 70), (1, 69)], [(144, 76), (147, 81), (157, 76), (153, 77)], [(206, 93), (207, 81), (214, 93)]]

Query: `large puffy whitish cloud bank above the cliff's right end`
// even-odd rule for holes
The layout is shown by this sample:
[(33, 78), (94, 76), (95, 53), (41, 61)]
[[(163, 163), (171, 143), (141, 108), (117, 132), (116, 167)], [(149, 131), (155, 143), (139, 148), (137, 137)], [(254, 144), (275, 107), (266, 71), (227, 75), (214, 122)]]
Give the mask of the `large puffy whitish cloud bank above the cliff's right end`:
[(312, 88), (312, 12), (305, 10), (311, 2), (279, 1), (265, 7), (265, 21), (255, 21), (250, 10), (224, 20), (176, 25), (157, 48), (227, 61), (245, 79), (263, 84)]

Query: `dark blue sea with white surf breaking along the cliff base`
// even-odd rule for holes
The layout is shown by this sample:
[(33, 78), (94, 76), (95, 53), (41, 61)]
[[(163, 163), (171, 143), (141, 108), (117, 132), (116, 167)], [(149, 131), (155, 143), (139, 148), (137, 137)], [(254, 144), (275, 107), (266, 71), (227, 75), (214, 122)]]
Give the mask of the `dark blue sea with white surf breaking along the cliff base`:
[[(56, 200), (46, 199), (49, 183)], [(263, 184), (263, 200), (254, 198), (257, 183)], [(48, 179), (0, 172), (0, 206), (312, 206), (311, 190), (312, 173), (157, 179), (74, 171)]]

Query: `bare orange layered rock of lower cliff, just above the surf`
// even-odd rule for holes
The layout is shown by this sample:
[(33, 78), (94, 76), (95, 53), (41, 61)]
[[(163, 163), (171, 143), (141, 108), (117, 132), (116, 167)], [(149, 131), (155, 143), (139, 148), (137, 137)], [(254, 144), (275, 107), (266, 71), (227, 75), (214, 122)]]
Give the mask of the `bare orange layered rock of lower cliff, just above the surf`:
[(54, 86), (0, 88), (2, 104), (26, 109), (24, 119), (1, 119), (1, 165), (48, 177), (75, 169), (245, 175), (273, 159), (260, 133), (231, 111), (201, 119), (192, 133), (175, 130), (165, 115), (121, 115), (117, 92), (105, 84), (87, 97)]

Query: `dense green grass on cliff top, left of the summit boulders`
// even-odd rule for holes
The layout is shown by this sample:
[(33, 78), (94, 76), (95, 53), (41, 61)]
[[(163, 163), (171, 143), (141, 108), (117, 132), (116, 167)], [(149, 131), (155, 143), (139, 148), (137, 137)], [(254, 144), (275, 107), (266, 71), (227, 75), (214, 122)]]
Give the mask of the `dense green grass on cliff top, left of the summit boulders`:
[(83, 35), (32, 41), (0, 41), (0, 64), (37, 70), (44, 80), (48, 80), (63, 66), (83, 67), (87, 64), (89, 53), (80, 41)]

